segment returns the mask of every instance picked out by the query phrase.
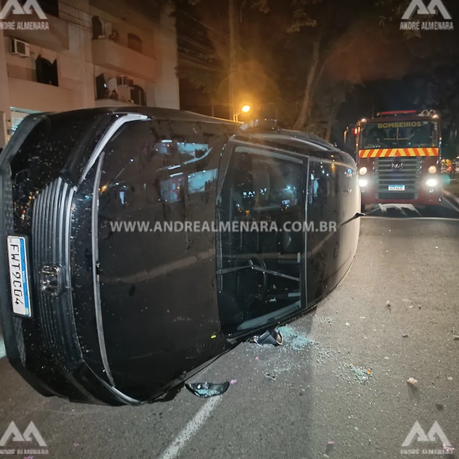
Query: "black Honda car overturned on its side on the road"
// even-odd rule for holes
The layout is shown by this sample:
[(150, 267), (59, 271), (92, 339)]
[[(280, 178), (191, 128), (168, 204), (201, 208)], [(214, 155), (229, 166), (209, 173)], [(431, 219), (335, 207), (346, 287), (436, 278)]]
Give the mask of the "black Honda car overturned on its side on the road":
[(0, 155), (0, 325), (45, 396), (155, 401), (313, 308), (355, 254), (349, 155), (275, 127), (126, 110), (30, 115)]

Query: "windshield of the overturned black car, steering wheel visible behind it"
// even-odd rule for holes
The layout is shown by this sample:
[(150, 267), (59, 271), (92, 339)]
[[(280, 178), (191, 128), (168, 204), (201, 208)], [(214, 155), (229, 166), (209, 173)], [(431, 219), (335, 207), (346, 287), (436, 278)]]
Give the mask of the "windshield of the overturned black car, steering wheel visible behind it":
[[(268, 149), (230, 155), (217, 196), (218, 280), (222, 328), (235, 334), (301, 308), (304, 166)], [(292, 222), (298, 231), (284, 231)]]

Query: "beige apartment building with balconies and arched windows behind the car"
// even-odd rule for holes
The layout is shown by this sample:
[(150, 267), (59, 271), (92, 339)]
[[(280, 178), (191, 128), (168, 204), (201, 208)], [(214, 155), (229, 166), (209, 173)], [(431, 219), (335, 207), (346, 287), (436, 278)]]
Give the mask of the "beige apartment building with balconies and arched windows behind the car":
[(16, 3), (0, 13), (0, 147), (30, 113), (179, 108), (172, 7), (144, 14), (127, 0), (36, 0), (24, 11)]

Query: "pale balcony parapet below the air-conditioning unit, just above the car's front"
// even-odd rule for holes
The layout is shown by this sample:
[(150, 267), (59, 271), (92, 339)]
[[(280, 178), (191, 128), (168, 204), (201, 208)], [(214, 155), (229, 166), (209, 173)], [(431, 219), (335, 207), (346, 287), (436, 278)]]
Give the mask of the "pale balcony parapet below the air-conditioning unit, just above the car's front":
[(64, 112), (77, 108), (71, 89), (11, 77), (8, 85), (11, 107), (37, 112)]

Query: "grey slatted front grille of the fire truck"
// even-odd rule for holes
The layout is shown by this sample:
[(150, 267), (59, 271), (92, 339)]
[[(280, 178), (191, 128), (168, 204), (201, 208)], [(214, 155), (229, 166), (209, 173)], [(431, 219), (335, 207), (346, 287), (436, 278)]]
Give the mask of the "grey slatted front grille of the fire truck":
[[(421, 179), (420, 157), (376, 158), (374, 181), (377, 199), (417, 199)], [(389, 191), (393, 185), (404, 185), (404, 191)]]

